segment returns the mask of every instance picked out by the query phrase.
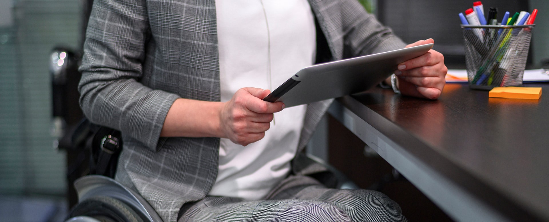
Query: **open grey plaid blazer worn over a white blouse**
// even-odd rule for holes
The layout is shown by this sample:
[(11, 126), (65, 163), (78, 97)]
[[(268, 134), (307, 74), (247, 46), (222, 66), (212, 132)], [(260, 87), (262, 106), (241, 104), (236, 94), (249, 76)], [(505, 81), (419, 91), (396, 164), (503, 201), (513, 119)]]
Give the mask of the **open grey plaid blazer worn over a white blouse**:
[[(355, 0), (310, 0), (318, 58), (339, 60), (404, 47)], [(119, 129), (116, 179), (164, 221), (214, 184), (219, 138), (159, 138), (177, 98), (220, 101), (214, 0), (96, 0), (79, 85), (87, 118)], [(302, 150), (331, 100), (309, 104)]]

